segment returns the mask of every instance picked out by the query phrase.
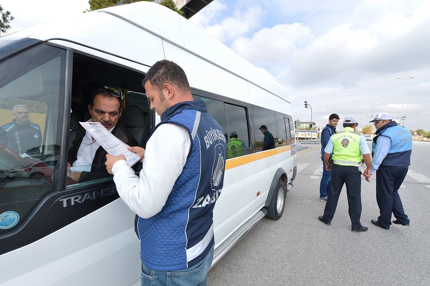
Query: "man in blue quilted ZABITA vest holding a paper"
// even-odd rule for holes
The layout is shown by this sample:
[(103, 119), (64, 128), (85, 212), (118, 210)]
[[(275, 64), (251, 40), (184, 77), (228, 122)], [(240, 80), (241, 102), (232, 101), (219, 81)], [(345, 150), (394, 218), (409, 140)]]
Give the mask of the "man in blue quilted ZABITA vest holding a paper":
[(144, 79), (161, 122), (148, 137), (139, 176), (123, 155), (107, 155), (118, 194), (138, 215), (142, 285), (206, 285), (214, 251), (213, 209), (221, 193), (226, 142), (185, 72), (162, 60)]

